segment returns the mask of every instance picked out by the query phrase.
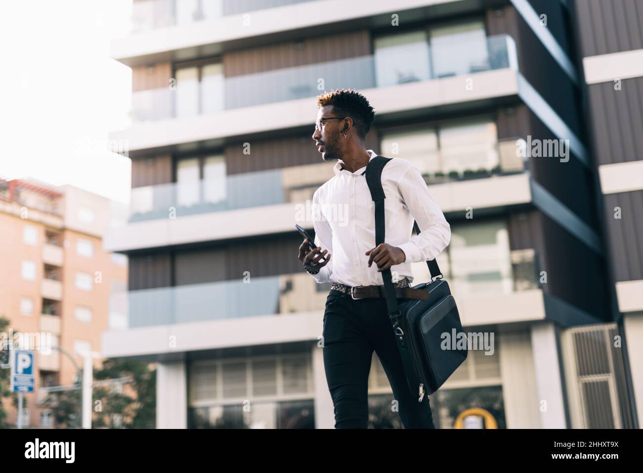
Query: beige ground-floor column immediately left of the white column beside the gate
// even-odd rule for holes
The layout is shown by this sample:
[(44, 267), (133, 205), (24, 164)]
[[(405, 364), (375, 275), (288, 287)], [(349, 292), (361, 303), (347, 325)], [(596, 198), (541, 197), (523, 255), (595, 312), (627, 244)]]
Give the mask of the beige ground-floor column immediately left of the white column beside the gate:
[(528, 329), (502, 332), (498, 338), (507, 429), (540, 429), (536, 369), (530, 332)]

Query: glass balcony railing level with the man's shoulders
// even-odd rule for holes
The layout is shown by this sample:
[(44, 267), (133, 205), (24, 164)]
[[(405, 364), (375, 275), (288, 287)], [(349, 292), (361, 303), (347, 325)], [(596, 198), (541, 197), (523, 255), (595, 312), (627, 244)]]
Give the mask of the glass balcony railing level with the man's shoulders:
[[(462, 144), (409, 161), (430, 184), (522, 172), (525, 164), (516, 153), (517, 140)], [(219, 180), (135, 187), (131, 193), (129, 221), (303, 203), (312, 199), (314, 191), (332, 176), (332, 166), (320, 163), (232, 174)]]

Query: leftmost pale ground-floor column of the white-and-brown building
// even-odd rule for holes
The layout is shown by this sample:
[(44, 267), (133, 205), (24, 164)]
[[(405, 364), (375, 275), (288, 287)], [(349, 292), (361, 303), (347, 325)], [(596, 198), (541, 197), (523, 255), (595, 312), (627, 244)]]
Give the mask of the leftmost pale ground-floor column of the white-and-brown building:
[(159, 362), (156, 367), (156, 428), (186, 429), (188, 425), (185, 362)]

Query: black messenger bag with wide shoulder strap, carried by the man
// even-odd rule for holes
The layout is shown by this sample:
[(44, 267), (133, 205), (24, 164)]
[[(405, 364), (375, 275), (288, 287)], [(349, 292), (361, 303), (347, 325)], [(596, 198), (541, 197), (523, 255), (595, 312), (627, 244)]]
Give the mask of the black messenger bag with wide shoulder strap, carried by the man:
[[(376, 246), (385, 243), (385, 194), (381, 176), (382, 169), (391, 159), (376, 156), (366, 168), (368, 190), (375, 202)], [(413, 222), (413, 228), (415, 232), (420, 232), (417, 222)], [(426, 301), (404, 299), (398, 302), (390, 268), (382, 272), (386, 306), (404, 364), (404, 373), (411, 393), (419, 395), (419, 402), (422, 402), (424, 394), (435, 393), (466, 360), (468, 353), (468, 339), (464, 348), (462, 343), (457, 343), (462, 337), (462, 323), (449, 284), (442, 278), (435, 259), (426, 264), (431, 273), (431, 282), (413, 286), (413, 289), (429, 293)]]

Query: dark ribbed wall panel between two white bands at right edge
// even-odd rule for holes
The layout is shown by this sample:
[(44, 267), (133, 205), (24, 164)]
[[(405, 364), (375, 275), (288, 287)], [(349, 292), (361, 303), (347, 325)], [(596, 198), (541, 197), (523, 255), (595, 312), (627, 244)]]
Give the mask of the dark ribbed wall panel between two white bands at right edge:
[(588, 86), (597, 163), (637, 161), (643, 149), (643, 77)]

